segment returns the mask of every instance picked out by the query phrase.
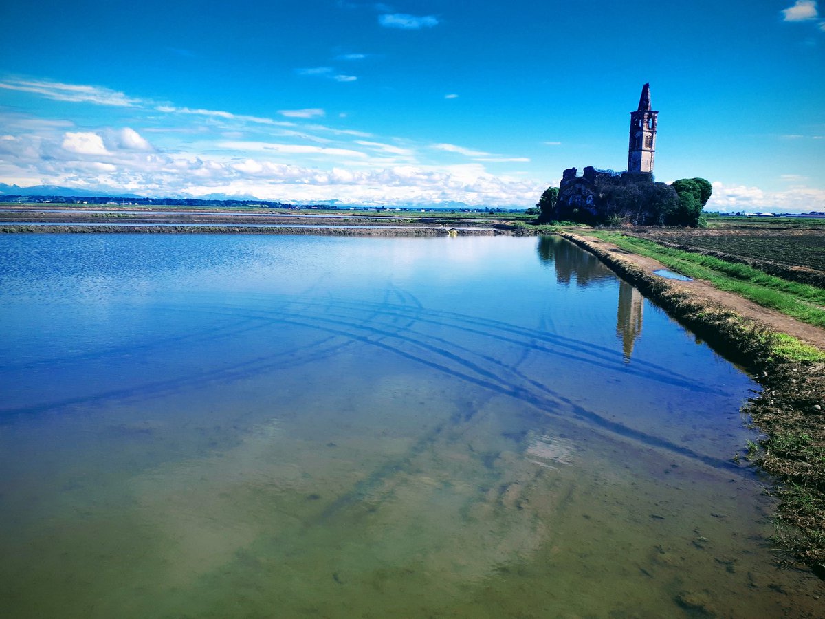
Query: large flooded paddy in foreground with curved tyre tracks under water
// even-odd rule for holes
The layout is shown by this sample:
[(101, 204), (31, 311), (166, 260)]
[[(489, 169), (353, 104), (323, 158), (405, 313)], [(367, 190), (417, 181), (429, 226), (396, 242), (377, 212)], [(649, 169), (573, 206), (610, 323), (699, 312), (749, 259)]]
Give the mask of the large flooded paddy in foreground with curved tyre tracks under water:
[(9, 617), (804, 617), (756, 388), (563, 239), (0, 239)]

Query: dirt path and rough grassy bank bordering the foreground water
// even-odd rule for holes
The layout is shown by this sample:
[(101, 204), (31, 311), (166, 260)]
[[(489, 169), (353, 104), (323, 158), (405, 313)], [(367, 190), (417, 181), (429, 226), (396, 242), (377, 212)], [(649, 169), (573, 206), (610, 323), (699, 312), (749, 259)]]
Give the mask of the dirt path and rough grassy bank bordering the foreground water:
[(771, 489), (779, 499), (773, 541), (825, 578), (825, 363), (777, 359), (773, 352), (777, 333), (825, 351), (825, 330), (703, 281), (656, 276), (661, 263), (611, 243), (584, 234), (561, 236), (595, 254), (761, 384), (761, 394), (743, 412), (766, 432), (748, 456), (776, 482)]

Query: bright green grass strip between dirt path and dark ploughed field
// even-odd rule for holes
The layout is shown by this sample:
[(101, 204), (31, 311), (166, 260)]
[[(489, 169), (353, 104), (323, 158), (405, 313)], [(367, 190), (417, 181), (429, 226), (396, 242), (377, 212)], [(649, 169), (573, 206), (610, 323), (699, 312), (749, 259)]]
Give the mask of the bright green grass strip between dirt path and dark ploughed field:
[(719, 258), (662, 247), (646, 239), (601, 231), (591, 234), (622, 249), (654, 258), (682, 275), (709, 281), (719, 290), (733, 292), (762, 307), (825, 328), (825, 309), (816, 306), (825, 305), (825, 290), (821, 288), (787, 281)]

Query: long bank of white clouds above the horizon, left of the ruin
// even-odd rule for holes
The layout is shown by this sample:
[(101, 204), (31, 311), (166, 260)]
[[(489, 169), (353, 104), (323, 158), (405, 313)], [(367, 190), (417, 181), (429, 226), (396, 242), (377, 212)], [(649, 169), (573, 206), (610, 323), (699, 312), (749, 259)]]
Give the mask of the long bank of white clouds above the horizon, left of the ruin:
[[(103, 133), (109, 135), (108, 131)], [(120, 134), (111, 130), (111, 135)], [(404, 149), (393, 144), (359, 141), (366, 142), (360, 144), (365, 149), (404, 155), (400, 152)], [(61, 146), (64, 142), (66, 148)], [(4, 134), (0, 150), (11, 154), (0, 158), (0, 173), (7, 179), (26, 178), (36, 170), (37, 182), (146, 196), (202, 196), (220, 191), (265, 199), (386, 205), (448, 200), (489, 206), (532, 204), (544, 188), (544, 183), (528, 179), (493, 176), (480, 163), (393, 163), (391, 158), (372, 158), (354, 149), (317, 145), (226, 140), (212, 144), (222, 151), (199, 155), (128, 149), (109, 152), (105, 144), (106, 139), (94, 132), (61, 132), (52, 142), (33, 135)], [(229, 149), (243, 156), (238, 158)], [(85, 157), (79, 158), (77, 151)], [(104, 154), (103, 160), (90, 159)], [(318, 164), (278, 160), (298, 156), (316, 159)], [(343, 163), (347, 159), (366, 167)], [(386, 164), (379, 165), (380, 161)]]

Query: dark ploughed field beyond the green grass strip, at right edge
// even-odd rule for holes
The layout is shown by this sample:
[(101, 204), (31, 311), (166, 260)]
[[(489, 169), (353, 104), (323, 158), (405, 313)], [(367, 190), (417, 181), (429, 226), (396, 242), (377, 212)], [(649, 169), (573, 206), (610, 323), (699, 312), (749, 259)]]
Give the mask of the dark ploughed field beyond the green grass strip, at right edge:
[(667, 240), (740, 258), (825, 271), (825, 234), (668, 234)]

